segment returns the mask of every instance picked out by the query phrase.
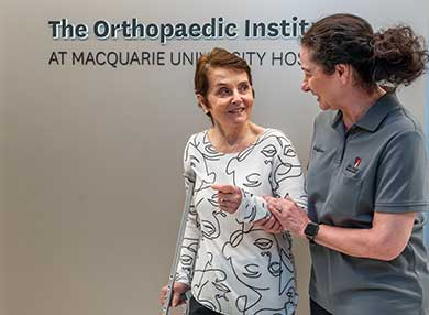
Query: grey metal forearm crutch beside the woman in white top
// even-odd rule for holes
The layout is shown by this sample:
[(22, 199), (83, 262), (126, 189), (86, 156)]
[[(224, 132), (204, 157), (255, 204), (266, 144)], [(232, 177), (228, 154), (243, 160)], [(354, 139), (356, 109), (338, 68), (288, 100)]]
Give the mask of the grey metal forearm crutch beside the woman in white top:
[(188, 181), (188, 189), (186, 193), (184, 211), (182, 214), (182, 222), (180, 222), (180, 228), (178, 231), (176, 250), (175, 250), (175, 254), (174, 254), (172, 270), (169, 271), (167, 294), (165, 296), (165, 302), (164, 302), (164, 306), (163, 306), (163, 314), (164, 315), (168, 315), (168, 312), (169, 312), (169, 305), (172, 303), (172, 296), (173, 296), (173, 287), (174, 287), (174, 282), (176, 279), (176, 270), (177, 270), (177, 265), (178, 265), (178, 262), (180, 259), (182, 243), (184, 240), (184, 235), (185, 235), (185, 229), (186, 229), (186, 221), (187, 221), (188, 214), (190, 210), (190, 203), (191, 203), (193, 196), (194, 196), (194, 187), (195, 187), (195, 178), (196, 178), (194, 170), (189, 170), (188, 172), (186, 172), (184, 174), (184, 176)]

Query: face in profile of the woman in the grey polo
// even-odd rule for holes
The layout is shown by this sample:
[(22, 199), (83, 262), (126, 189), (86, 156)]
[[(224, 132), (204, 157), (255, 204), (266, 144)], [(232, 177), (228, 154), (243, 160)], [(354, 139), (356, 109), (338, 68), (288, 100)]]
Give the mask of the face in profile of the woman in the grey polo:
[(299, 55), (304, 72), (301, 89), (311, 91), (317, 97), (320, 109), (338, 109), (337, 99), (341, 87), (336, 72), (331, 75), (326, 74), (321, 66), (311, 61), (310, 51), (306, 46), (301, 46)]

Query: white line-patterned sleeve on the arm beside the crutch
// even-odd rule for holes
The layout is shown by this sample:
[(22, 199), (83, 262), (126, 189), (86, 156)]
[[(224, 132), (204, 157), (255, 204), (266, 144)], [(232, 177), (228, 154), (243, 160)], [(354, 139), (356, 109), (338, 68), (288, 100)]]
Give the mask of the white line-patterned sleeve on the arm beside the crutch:
[[(184, 154), (184, 170), (188, 173), (191, 169), (191, 163), (188, 159), (189, 144), (186, 145)], [(194, 194), (189, 191), (189, 182), (185, 178), (186, 194)], [(190, 203), (190, 209), (186, 220), (184, 239), (180, 247), (179, 261), (176, 270), (176, 281), (186, 283), (190, 286), (194, 275), (194, 265), (197, 256), (197, 250), (200, 240), (200, 224), (198, 213), (195, 209), (194, 198)]]

